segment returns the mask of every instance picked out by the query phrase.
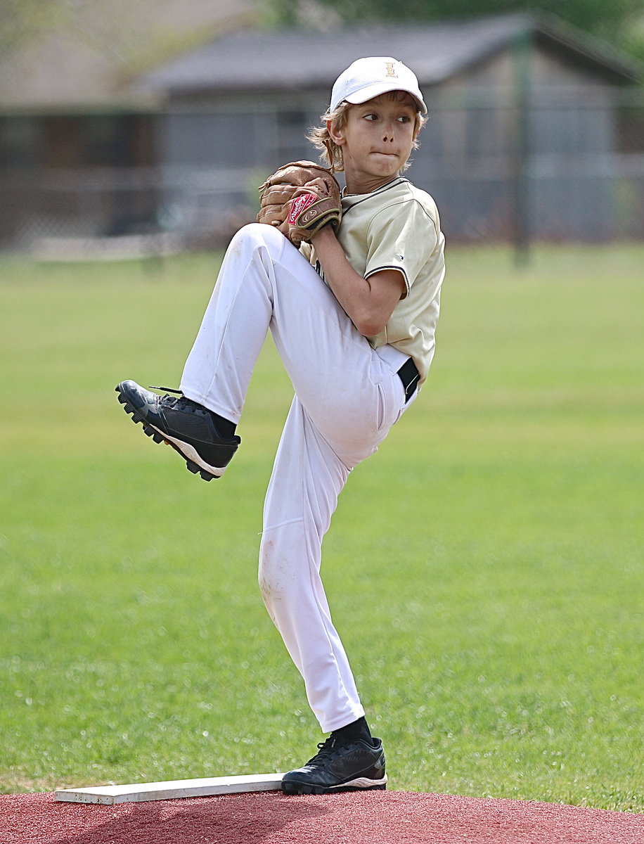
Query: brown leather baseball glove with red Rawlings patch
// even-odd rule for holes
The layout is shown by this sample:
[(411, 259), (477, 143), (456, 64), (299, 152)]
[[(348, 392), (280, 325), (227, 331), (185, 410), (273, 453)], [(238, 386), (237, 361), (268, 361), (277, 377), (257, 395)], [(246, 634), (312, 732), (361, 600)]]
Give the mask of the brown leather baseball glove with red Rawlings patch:
[(276, 226), (295, 246), (322, 226), (342, 219), (340, 186), (331, 170), (315, 161), (290, 161), (259, 187), (258, 223)]

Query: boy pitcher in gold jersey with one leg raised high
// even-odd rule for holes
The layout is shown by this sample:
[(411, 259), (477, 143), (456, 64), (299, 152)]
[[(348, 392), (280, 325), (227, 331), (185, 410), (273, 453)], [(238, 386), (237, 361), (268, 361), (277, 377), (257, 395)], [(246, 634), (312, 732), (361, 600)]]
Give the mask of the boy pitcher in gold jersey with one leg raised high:
[[(116, 387), (149, 436), (169, 442), (192, 472), (219, 477), (240, 443), (235, 426), (253, 365), (273, 334), (295, 398), (264, 505), (259, 584), (311, 709), (330, 733), (317, 755), (284, 775), (289, 794), (387, 782), (382, 740), (365, 720), (320, 565), (349, 473), (409, 408), (434, 355), (444, 241), (434, 201), (400, 175), (426, 111), (402, 62), (368, 57), (347, 68), (311, 135), (344, 170), (339, 228), (322, 225), (301, 250), (276, 226), (242, 228), (178, 395), (160, 397), (134, 381)], [(328, 196), (319, 179), (306, 190), (313, 199)]]

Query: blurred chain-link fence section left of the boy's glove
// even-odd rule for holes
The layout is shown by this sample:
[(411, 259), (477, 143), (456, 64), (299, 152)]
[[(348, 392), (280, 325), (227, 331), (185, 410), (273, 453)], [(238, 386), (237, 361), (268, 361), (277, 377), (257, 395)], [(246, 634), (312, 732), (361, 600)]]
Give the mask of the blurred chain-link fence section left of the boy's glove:
[(257, 214), (250, 178), (155, 167), (15, 174), (0, 179), (0, 249), (107, 259), (225, 246)]

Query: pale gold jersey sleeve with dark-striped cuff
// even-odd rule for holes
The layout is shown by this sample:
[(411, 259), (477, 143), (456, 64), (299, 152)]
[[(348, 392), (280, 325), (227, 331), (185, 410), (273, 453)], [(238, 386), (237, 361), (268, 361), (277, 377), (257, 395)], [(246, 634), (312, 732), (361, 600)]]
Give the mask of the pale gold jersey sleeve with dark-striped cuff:
[(365, 279), (385, 269), (403, 275), (406, 293), (436, 248), (436, 221), (415, 199), (393, 203), (371, 220), (367, 233)]

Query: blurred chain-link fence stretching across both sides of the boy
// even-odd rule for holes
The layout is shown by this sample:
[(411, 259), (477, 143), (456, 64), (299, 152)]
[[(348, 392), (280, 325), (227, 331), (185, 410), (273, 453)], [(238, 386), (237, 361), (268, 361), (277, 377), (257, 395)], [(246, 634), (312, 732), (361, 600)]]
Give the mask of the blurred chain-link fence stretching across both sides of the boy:
[[(565, 120), (564, 106), (533, 110), (523, 147), (510, 131), (516, 110), (436, 109), (409, 177), (436, 198), (452, 243), (644, 239), (644, 93), (617, 106), (576, 103), (573, 116), (566, 106)], [(267, 172), (5, 169), (0, 250), (68, 260), (225, 246), (255, 219)]]

